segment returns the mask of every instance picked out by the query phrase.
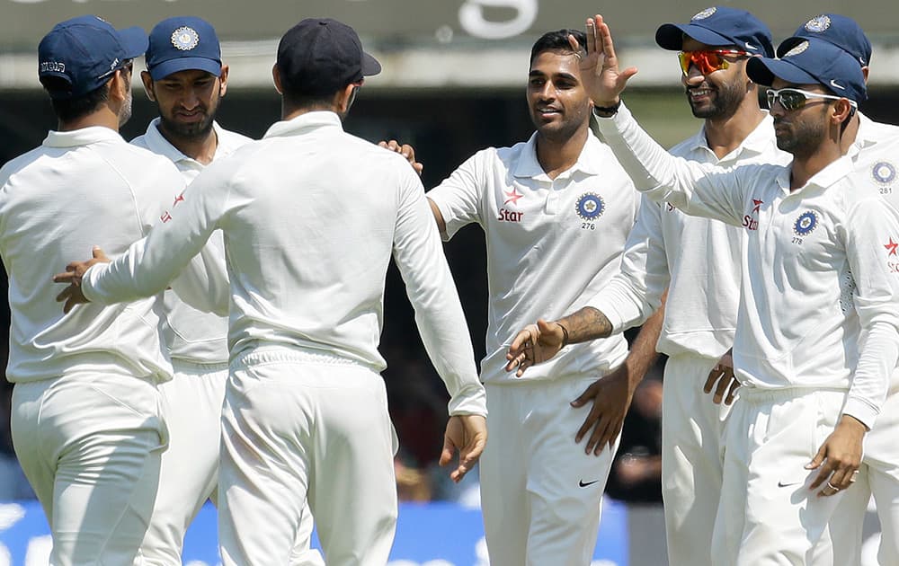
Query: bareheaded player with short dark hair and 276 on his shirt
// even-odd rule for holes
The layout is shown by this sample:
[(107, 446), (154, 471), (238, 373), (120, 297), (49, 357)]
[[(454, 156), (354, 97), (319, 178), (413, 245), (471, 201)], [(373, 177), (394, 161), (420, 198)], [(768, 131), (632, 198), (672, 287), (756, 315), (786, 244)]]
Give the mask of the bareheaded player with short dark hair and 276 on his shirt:
[(617, 335), (567, 347), (521, 378), (503, 369), (524, 323), (583, 306), (619, 271), (639, 207), (609, 148), (590, 134), (592, 102), (569, 33), (583, 39), (580, 31), (551, 31), (531, 49), (527, 100), (537, 131), (530, 139), (476, 153), (428, 192), (444, 238), (472, 223), (485, 232), (481, 379), (491, 445), (480, 482), (494, 566), (591, 562), (627, 408), (616, 408), (618, 429), (607, 442), (586, 449), (576, 442), (591, 431), (594, 411), (605, 412), (610, 391), (623, 390), (629, 401), (655, 357), (654, 338), (637, 340), (628, 357)]

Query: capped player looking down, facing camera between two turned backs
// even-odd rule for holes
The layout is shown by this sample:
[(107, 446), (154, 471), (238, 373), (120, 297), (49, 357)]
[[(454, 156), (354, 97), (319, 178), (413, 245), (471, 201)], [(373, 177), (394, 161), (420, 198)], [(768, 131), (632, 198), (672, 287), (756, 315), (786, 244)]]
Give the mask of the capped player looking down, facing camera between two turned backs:
[[(222, 64), (218, 36), (209, 22), (178, 16), (157, 23), (145, 59), (147, 70), (140, 78), (159, 117), (132, 144), (171, 160), (189, 184), (214, 160), (251, 141), (216, 122), (227, 92), (228, 66)], [(173, 208), (178, 200), (174, 202)], [(221, 231), (212, 234), (205, 249), (225, 265)], [(141, 554), (150, 564), (180, 565), (188, 526), (207, 499), (218, 503), (227, 317), (200, 312), (172, 290), (165, 291), (164, 305), (163, 335), (174, 376), (159, 386), (159, 393), (169, 447), (163, 454), (156, 505)], [(312, 527), (312, 514), (306, 509), (290, 564), (324, 564), (318, 551), (309, 548)]]

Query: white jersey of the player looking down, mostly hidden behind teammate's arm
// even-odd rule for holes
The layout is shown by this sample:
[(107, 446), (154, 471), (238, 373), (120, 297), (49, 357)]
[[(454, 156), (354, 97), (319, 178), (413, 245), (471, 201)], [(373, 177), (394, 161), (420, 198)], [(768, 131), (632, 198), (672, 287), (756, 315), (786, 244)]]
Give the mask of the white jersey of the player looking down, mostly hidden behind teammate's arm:
[[(147, 126), (147, 133), (135, 137), (131, 143), (149, 149), (155, 154), (168, 158), (184, 177), (188, 184), (193, 181), (206, 165), (196, 159), (182, 154), (159, 132), (160, 119), (156, 118)], [(231, 155), (238, 147), (253, 141), (251, 138), (221, 128), (218, 122), (212, 122), (218, 138), (218, 146), (213, 161)], [(206, 244), (210, 254), (217, 254), (225, 261), (225, 240), (221, 231), (214, 232)], [(172, 290), (163, 294), (165, 320), (163, 336), (169, 355), (173, 359), (182, 359), (192, 363), (227, 362), (227, 317), (212, 313), (203, 313), (191, 305), (187, 305)]]

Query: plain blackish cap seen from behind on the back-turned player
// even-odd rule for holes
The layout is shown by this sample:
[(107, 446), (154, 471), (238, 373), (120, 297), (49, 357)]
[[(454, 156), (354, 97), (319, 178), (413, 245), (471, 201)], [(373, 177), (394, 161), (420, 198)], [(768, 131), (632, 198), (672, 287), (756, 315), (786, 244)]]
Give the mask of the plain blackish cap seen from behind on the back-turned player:
[(307, 18), (290, 28), (278, 44), (281, 80), (307, 93), (336, 93), (381, 65), (362, 50), (359, 35), (331, 18)]

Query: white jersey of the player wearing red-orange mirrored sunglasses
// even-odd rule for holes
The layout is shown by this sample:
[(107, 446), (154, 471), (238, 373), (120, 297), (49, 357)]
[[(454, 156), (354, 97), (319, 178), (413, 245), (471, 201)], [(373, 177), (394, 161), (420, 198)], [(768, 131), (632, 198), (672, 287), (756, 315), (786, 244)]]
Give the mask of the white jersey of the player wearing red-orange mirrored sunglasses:
[[(705, 128), (669, 153), (721, 167), (788, 164), (792, 159), (778, 149), (769, 115), (721, 159), (708, 147)], [(720, 358), (734, 344), (743, 227), (690, 217), (670, 203), (643, 199), (621, 272), (588, 305), (621, 332), (644, 323), (670, 288), (657, 349), (668, 356)]]

